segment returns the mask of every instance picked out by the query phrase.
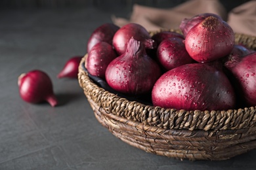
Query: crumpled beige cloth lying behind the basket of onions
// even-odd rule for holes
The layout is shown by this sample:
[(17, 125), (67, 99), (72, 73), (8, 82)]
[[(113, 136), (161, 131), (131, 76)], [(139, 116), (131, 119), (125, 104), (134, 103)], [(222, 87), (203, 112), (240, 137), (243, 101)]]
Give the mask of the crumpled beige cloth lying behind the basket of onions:
[(190, 0), (171, 9), (134, 5), (129, 20), (112, 17), (112, 21), (119, 27), (131, 22), (137, 23), (144, 26), (148, 31), (177, 29), (184, 18), (191, 18), (196, 14), (205, 12), (221, 16), (237, 33), (256, 36), (256, 1), (249, 1), (233, 9), (229, 14), (219, 0)]

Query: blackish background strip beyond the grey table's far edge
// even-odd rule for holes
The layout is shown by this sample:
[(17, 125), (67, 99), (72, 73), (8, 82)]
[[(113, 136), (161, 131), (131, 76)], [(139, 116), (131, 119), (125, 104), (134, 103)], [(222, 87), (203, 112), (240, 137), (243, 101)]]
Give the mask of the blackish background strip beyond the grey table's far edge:
[[(1, 0), (0, 8), (59, 8), (59, 7), (99, 7), (105, 9), (125, 7), (131, 9), (137, 3), (150, 7), (170, 8), (175, 7), (186, 0)], [(227, 11), (247, 2), (248, 0), (221, 0)]]

